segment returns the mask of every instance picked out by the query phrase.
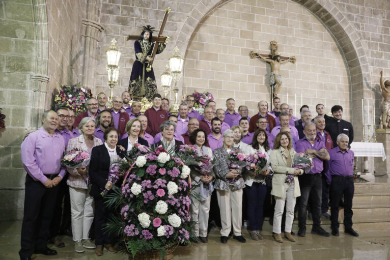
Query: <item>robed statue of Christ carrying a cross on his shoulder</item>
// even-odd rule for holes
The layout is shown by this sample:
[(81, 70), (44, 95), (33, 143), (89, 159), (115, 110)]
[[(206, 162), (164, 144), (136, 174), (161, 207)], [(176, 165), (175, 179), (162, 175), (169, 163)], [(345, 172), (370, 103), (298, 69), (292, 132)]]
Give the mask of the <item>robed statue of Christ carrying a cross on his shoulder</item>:
[(135, 61), (129, 82), (129, 93), (134, 99), (138, 100), (144, 97), (151, 99), (157, 93), (152, 64), (155, 55), (161, 53), (168, 43), (169, 37), (164, 37), (161, 34), (170, 11), (170, 8), (165, 9), (157, 37), (152, 36), (155, 30), (150, 25), (143, 27), (141, 37), (139, 35), (127, 36), (127, 40), (136, 40), (134, 42)]

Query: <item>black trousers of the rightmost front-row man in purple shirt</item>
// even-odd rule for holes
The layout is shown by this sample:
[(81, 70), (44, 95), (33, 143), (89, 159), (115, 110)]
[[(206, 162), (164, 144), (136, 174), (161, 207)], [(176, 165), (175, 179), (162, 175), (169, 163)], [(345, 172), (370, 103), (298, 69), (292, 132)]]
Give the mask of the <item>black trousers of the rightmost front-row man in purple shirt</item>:
[(332, 228), (339, 228), (339, 204), (342, 198), (344, 198), (344, 228), (352, 227), (352, 199), (354, 192), (353, 178), (345, 179), (343, 176), (332, 175), (330, 183), (330, 219)]

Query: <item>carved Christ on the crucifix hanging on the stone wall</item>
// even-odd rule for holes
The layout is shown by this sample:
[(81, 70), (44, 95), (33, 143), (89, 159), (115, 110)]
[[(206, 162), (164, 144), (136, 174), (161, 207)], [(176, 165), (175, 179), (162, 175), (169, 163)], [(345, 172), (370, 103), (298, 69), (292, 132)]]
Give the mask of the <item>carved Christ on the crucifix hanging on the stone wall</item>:
[(279, 93), (280, 86), (282, 85), (282, 76), (280, 74), (280, 67), (282, 64), (291, 62), (295, 63), (295, 56), (285, 57), (281, 56), (277, 51), (277, 42), (271, 41), (271, 54), (261, 54), (258, 52), (251, 51), (249, 53), (250, 57), (254, 59), (255, 57), (260, 58), (262, 61), (269, 63), (271, 65), (271, 74), (269, 77), (269, 84), (271, 85), (271, 92), (273, 97), (277, 96)]

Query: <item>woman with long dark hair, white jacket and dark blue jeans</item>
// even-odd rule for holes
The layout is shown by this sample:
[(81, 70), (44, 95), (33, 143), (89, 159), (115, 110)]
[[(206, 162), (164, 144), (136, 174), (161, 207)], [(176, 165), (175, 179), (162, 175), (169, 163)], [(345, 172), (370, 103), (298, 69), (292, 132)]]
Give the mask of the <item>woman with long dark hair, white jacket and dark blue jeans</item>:
[[(252, 140), (252, 144), (245, 150), (246, 155), (254, 156), (254, 159), (262, 166), (251, 165), (252, 168), (244, 175), (245, 195), (247, 200), (247, 216), (249, 219), (250, 237), (253, 240), (261, 240), (260, 234), (264, 221), (264, 200), (267, 194), (267, 185), (265, 179), (272, 175), (272, 168), (269, 162), (271, 149), (268, 145), (267, 133), (263, 129), (257, 129)], [(264, 156), (264, 158), (262, 157)], [(263, 159), (262, 159), (263, 158)], [(265, 161), (265, 164), (264, 164)]]

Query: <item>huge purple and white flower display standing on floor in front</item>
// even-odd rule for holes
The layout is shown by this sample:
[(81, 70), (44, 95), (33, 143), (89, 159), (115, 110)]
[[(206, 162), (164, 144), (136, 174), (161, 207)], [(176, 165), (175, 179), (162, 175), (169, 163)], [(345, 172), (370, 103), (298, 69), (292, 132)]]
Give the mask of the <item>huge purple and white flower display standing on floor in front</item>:
[(173, 150), (146, 149), (148, 153), (140, 153), (125, 176), (117, 208), (120, 218), (113, 217), (107, 230), (123, 236), (130, 259), (143, 259), (145, 254), (148, 259), (151, 254), (170, 259), (172, 255), (166, 255), (170, 247), (189, 244), (193, 236), (190, 169)]

